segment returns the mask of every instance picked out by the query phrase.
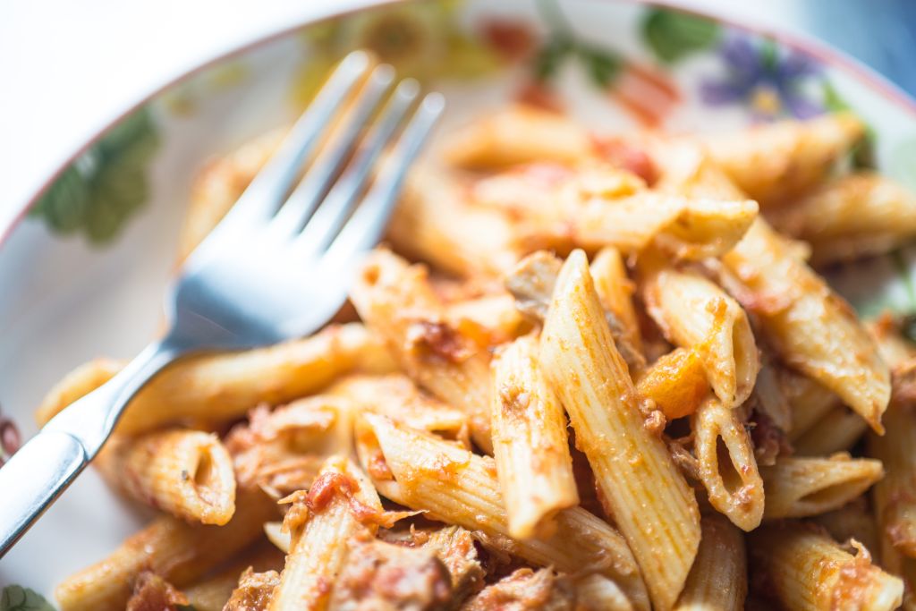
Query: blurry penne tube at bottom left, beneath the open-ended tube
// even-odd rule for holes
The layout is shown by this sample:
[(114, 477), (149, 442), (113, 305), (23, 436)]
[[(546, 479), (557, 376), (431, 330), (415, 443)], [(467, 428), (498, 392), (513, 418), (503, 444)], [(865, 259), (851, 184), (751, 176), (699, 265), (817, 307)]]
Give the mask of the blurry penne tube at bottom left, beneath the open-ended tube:
[(137, 575), (157, 573), (177, 587), (191, 584), (245, 549), (261, 534), (277, 505), (261, 491), (245, 491), (225, 526), (188, 524), (162, 516), (125, 540), (102, 562), (64, 580), (55, 590), (61, 611), (122, 611)]

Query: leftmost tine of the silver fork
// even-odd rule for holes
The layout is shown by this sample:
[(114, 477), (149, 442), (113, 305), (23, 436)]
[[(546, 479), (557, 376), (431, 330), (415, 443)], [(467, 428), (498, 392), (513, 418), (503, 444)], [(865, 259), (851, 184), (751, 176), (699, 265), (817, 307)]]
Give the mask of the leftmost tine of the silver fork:
[(299, 174), (303, 160), (321, 142), (321, 136), (332, 123), (333, 116), (362, 81), (370, 65), (371, 60), (365, 51), (354, 51), (341, 61), (315, 100), (293, 125), (277, 153), (257, 173), (224, 221), (217, 225), (217, 230), (224, 231), (230, 225), (263, 222), (276, 212)]

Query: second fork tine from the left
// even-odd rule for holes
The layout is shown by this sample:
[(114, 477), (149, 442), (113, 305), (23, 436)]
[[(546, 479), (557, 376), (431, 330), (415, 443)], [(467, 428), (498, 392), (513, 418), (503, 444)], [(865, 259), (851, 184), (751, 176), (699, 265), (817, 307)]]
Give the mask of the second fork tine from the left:
[[(327, 191), (337, 171), (354, 149), (365, 125), (394, 82), (391, 66), (377, 66), (365, 87), (357, 93), (354, 109), (344, 115), (343, 125), (334, 130), (332, 141), (318, 152), (305, 176), (270, 221), (270, 239), (296, 235)], [(322, 209), (324, 206), (322, 205)], [(321, 211), (319, 211), (321, 213)], [(316, 213), (317, 216), (318, 213)]]

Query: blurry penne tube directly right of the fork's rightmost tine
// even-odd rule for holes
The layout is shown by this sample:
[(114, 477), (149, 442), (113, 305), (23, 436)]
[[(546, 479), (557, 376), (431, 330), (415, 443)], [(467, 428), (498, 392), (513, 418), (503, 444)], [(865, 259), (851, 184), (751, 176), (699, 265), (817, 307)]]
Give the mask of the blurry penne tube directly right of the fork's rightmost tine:
[(466, 201), (441, 169), (411, 169), (387, 239), (399, 253), (458, 277), (501, 276), (521, 258), (518, 230), (500, 211)]

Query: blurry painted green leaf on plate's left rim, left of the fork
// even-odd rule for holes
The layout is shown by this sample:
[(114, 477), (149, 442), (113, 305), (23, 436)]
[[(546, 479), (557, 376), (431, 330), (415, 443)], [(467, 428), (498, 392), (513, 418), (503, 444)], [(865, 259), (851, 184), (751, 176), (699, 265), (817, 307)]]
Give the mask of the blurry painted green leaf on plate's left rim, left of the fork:
[(109, 242), (147, 201), (147, 166), (158, 144), (152, 116), (140, 109), (65, 169), (30, 216), (56, 234), (81, 232), (93, 244)]

